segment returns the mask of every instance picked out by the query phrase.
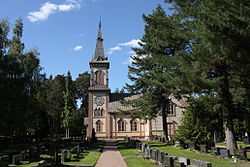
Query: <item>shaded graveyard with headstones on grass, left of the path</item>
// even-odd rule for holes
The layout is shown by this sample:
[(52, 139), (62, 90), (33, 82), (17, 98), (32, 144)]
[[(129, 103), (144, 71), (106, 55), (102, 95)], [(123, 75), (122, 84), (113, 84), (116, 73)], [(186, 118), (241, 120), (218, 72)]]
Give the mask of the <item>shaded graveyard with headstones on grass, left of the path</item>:
[(104, 144), (104, 140), (96, 142), (79, 139), (37, 141), (29, 144), (23, 151), (1, 150), (0, 167), (95, 166)]

